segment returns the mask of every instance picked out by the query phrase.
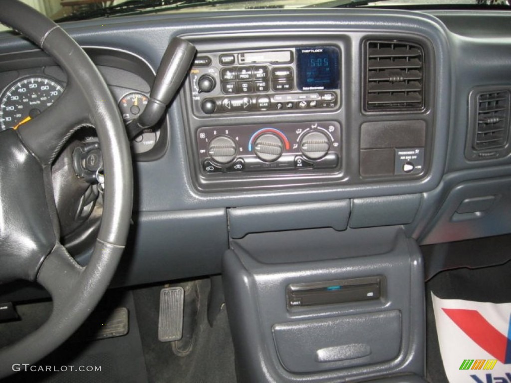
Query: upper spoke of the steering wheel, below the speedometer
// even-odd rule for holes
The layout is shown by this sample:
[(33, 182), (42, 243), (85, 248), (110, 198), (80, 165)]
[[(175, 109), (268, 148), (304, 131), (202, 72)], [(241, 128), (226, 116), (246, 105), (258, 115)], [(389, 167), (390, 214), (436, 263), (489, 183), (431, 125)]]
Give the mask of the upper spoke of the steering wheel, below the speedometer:
[(53, 162), (69, 136), (91, 124), (79, 86), (70, 81), (60, 97), (36, 118), (21, 124), (18, 134), (43, 165)]

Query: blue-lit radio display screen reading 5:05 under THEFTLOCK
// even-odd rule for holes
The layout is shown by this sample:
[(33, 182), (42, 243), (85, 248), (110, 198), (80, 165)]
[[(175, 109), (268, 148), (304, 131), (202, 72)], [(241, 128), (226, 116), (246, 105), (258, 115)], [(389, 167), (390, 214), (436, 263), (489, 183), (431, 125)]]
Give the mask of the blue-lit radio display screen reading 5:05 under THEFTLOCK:
[(299, 90), (339, 89), (339, 51), (333, 46), (296, 49)]

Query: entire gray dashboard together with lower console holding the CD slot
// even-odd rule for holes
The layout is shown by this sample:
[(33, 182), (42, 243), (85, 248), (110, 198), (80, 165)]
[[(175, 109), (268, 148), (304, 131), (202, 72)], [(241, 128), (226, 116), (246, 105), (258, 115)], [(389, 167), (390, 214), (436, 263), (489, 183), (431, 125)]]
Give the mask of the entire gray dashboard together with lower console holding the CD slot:
[[(164, 109), (148, 98), (169, 41), (197, 50), (132, 141), (133, 213), (111, 287), (214, 276), (242, 381), (422, 381), (425, 274), (509, 257), (492, 241), (449, 251), (511, 233), (507, 12), (252, 9), (62, 27), (128, 134), (146, 105)], [(0, 129), (38, 118), (66, 82), (35, 45), (0, 34)], [(108, 177), (100, 145), (77, 127), (52, 167), (61, 241), (82, 265)], [(0, 287), (5, 302), (47, 296)]]

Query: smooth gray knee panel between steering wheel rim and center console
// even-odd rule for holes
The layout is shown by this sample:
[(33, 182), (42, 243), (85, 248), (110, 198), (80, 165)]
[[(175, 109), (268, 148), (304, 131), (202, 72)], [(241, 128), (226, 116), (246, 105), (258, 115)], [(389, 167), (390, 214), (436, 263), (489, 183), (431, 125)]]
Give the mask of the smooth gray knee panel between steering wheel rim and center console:
[(139, 213), (134, 221), (113, 285), (220, 272), (228, 248), (225, 209)]

